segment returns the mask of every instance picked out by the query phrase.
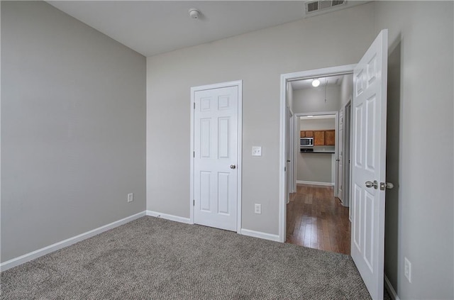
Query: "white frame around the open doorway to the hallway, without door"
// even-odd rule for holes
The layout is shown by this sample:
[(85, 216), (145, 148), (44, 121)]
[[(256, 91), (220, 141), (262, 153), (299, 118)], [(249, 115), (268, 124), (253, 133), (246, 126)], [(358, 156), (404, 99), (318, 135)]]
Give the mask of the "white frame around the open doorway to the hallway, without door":
[(326, 76), (335, 76), (341, 74), (350, 74), (353, 73), (353, 68), (356, 65), (343, 65), (337, 67), (327, 67), (317, 70), (309, 70), (302, 72), (293, 72), (287, 74), (281, 74), (281, 96), (280, 96), (280, 122), (279, 122), (279, 242), (285, 242), (285, 226), (287, 223), (287, 197), (285, 195), (287, 176), (285, 172), (285, 167), (287, 164), (286, 156), (286, 143), (285, 139), (287, 136), (287, 105), (286, 105), (286, 96), (287, 96), (287, 82), (291, 82), (298, 79), (309, 79), (314, 77), (326, 77)]

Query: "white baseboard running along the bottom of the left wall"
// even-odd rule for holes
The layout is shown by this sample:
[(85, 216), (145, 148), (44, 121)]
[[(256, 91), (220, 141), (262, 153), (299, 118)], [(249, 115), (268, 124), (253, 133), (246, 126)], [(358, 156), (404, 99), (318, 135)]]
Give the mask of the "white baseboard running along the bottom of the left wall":
[(95, 228), (93, 230), (89, 230), (86, 233), (81, 233), (79, 235), (73, 236), (72, 238), (67, 238), (66, 240), (62, 240), (52, 245), (48, 245), (47, 247), (35, 250), (33, 252), (29, 252), (27, 254), (21, 255), (19, 257), (15, 257), (11, 260), (7, 260), (6, 262), (2, 262), (0, 264), (1, 272), (11, 269), (12, 267), (16, 267), (18, 265), (22, 265), (23, 263), (29, 262), (31, 260), (35, 260), (38, 257), (46, 255), (50, 252), (54, 252), (56, 250), (65, 248), (67, 246), (73, 245), (75, 243), (80, 242), (81, 240), (85, 240), (87, 238), (91, 238), (94, 235), (98, 235), (99, 233), (104, 233), (104, 231), (110, 230), (112, 228), (116, 228), (123, 224), (129, 223), (134, 221), (137, 218), (145, 216), (145, 211), (140, 213), (135, 213), (133, 216), (128, 216), (126, 218), (122, 218), (121, 220), (109, 223), (107, 225)]

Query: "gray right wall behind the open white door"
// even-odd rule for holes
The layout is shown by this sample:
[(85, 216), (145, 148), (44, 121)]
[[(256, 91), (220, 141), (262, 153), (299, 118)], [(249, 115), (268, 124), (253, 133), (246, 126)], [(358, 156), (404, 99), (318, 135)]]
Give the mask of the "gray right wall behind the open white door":
[(387, 181), (396, 185), (385, 273), (400, 299), (453, 299), (453, 2), (375, 5), (376, 33), (389, 28)]

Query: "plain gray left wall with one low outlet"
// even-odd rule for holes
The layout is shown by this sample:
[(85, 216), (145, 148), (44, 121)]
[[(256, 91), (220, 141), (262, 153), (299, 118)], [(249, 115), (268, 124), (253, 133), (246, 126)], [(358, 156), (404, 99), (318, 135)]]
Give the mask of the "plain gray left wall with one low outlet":
[(1, 262), (145, 210), (145, 79), (49, 4), (1, 1)]

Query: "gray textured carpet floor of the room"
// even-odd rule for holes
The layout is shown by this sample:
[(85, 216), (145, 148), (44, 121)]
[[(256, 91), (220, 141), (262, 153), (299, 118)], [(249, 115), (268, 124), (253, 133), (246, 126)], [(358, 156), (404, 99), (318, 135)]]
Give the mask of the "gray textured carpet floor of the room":
[(1, 299), (370, 299), (348, 255), (143, 217), (1, 272)]

